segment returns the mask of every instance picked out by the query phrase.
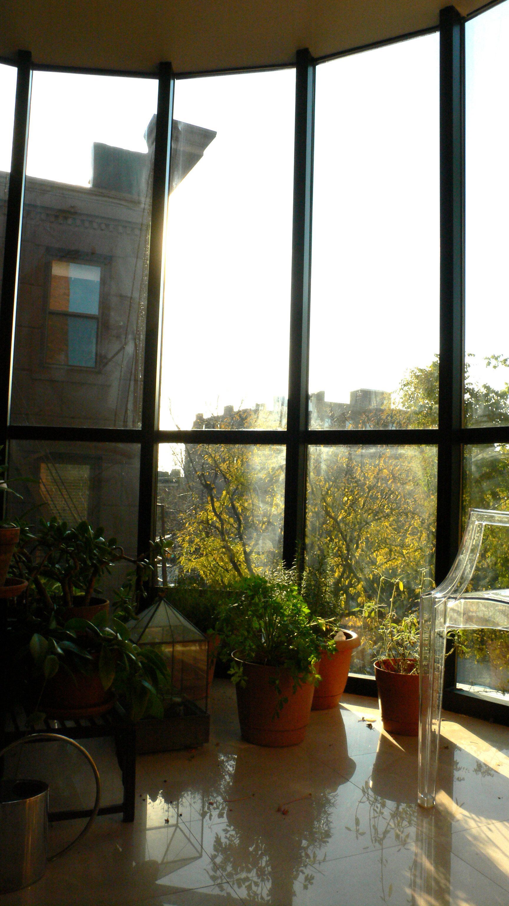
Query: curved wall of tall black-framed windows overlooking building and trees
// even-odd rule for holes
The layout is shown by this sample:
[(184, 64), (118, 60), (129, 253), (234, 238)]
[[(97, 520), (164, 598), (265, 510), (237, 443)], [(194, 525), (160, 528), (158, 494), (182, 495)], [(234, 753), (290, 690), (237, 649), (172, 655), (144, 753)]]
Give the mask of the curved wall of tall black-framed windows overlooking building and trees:
[[(34, 71), (0, 336), (14, 515), (130, 553), (169, 533), (170, 583), (303, 553), (351, 626), (380, 576), (401, 612), (444, 577), (462, 505), (509, 502), (508, 11), (296, 69)], [(480, 569), (506, 585), (509, 555)], [(466, 653), (446, 707), (509, 723), (502, 640)], [(372, 691), (365, 650), (354, 670)]]

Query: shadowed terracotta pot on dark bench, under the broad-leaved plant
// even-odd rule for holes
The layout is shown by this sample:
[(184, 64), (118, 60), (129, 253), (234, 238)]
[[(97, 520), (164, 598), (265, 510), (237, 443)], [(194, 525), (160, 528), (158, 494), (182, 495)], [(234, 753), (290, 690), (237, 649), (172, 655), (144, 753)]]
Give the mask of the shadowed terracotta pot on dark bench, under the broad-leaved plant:
[(84, 717), (85, 711), (89, 715), (101, 713), (111, 708), (114, 701), (110, 689), (104, 689), (101, 683), (97, 664), (91, 674), (76, 672), (72, 676), (61, 667), (52, 679), (48, 679), (39, 708), (48, 717)]

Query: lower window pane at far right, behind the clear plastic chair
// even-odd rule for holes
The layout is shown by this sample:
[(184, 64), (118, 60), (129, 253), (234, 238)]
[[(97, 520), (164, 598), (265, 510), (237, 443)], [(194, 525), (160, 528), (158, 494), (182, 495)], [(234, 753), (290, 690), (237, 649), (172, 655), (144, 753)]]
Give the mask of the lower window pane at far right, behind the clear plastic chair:
[[(509, 446), (479, 444), (464, 452), (463, 519), (471, 506), (509, 510)], [(507, 532), (486, 525), (483, 546), (469, 591), (509, 588)], [(460, 688), (495, 698), (509, 694), (509, 632), (463, 631), (456, 681)]]

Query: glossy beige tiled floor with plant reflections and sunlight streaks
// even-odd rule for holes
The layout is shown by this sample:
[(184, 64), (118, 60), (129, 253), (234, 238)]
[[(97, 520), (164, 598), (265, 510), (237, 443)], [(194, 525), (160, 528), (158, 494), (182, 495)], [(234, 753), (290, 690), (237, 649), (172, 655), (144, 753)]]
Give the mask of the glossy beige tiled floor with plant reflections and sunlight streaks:
[(424, 812), (417, 740), (385, 735), (375, 705), (347, 696), (301, 746), (259, 748), (215, 680), (210, 743), (139, 758), (135, 823), (101, 818), (0, 906), (509, 906), (509, 730), (446, 714)]

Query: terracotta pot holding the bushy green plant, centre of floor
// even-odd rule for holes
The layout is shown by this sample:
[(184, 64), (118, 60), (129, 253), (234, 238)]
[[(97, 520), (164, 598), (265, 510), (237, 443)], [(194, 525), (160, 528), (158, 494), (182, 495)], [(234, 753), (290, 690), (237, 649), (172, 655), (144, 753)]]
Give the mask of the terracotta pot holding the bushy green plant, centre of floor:
[[(242, 661), (239, 652), (233, 658)], [(246, 742), (256, 746), (296, 746), (303, 741), (311, 716), (312, 683), (304, 683), (293, 692), (293, 678), (288, 670), (242, 661), (245, 688), (236, 684), (236, 704), (240, 732)], [(288, 698), (279, 717), (274, 717), (278, 695), (270, 679), (279, 677), (283, 696)]]

